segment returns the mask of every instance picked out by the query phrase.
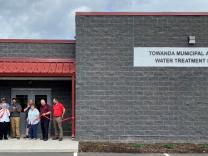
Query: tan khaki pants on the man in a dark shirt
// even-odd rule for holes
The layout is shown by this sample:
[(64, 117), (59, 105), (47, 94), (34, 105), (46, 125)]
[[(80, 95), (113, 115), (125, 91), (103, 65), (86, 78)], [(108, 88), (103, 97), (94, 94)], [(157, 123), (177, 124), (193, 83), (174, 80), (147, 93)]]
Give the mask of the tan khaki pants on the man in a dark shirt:
[(11, 135), (13, 138), (20, 137), (20, 117), (11, 117)]

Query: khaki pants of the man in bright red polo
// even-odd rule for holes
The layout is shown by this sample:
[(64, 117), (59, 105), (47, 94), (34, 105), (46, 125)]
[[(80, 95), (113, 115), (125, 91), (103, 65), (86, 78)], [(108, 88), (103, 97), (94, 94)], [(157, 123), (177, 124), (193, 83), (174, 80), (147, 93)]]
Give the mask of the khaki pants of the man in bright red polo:
[(55, 129), (55, 137), (63, 138), (63, 128), (62, 128), (62, 118), (61, 117), (54, 117), (53, 125)]

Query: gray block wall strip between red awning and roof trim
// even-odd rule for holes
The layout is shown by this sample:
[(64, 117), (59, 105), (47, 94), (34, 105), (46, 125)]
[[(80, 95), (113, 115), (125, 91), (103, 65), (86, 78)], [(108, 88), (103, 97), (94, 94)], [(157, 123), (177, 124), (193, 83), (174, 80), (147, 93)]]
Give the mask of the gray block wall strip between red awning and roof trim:
[(0, 43), (0, 57), (74, 58), (74, 43)]

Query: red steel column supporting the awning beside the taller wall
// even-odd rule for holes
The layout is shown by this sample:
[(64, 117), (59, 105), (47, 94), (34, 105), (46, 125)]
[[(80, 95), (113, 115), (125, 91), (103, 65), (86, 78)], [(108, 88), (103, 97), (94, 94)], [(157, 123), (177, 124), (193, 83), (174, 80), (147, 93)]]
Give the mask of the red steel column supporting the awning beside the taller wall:
[(72, 139), (75, 138), (75, 73), (72, 75)]

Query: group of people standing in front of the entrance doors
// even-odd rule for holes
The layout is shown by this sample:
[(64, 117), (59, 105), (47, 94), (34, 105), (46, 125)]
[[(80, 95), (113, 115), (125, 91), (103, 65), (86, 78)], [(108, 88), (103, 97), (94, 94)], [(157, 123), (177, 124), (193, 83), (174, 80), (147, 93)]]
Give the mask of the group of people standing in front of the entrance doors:
[[(8, 132), (12, 138), (20, 139), (20, 113), (25, 112), (25, 137), (37, 139), (38, 125), (41, 125), (42, 140), (48, 140), (49, 123), (53, 121), (55, 135), (53, 140), (63, 140), (62, 119), (65, 114), (65, 108), (58, 98), (53, 99), (52, 109), (44, 99), (40, 100), (40, 110), (35, 106), (32, 100), (28, 101), (27, 107), (22, 108), (17, 103), (16, 98), (12, 99), (12, 104), (6, 102), (6, 98), (1, 99), (0, 103), (0, 140), (8, 140)], [(52, 118), (51, 118), (52, 117)]]

